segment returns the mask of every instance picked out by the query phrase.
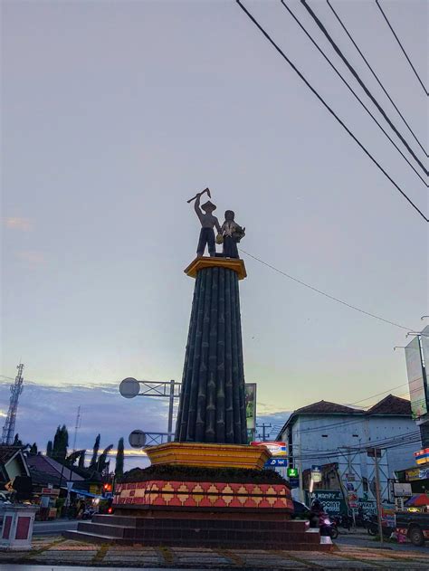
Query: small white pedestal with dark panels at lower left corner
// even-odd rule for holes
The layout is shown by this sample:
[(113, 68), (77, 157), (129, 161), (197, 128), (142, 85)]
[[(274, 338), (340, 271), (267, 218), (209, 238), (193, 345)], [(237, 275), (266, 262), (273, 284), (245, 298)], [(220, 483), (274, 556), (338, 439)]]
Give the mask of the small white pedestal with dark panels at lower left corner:
[(2, 509), (0, 549), (31, 549), (37, 506), (11, 504)]

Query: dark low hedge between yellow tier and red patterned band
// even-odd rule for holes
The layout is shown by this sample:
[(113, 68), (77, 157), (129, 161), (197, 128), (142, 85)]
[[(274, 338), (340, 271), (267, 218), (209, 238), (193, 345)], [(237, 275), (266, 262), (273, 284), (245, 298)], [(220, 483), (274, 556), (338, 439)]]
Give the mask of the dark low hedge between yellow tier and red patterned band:
[(288, 484), (281, 475), (272, 470), (248, 470), (246, 468), (204, 468), (200, 466), (155, 465), (148, 468), (133, 468), (118, 481), (175, 480), (175, 481), (222, 481), (243, 484)]

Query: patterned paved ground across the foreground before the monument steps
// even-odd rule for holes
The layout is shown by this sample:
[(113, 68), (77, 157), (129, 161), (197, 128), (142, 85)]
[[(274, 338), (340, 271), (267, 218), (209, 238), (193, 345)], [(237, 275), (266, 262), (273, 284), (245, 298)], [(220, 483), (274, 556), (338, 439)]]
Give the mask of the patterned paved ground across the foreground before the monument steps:
[(45, 566), (150, 567), (188, 569), (406, 569), (429, 570), (427, 553), (418, 548), (394, 551), (379, 547), (340, 545), (331, 553), (251, 549), (191, 549), (183, 547), (96, 546), (79, 541), (35, 538), (32, 551), (0, 551), (5, 563)]

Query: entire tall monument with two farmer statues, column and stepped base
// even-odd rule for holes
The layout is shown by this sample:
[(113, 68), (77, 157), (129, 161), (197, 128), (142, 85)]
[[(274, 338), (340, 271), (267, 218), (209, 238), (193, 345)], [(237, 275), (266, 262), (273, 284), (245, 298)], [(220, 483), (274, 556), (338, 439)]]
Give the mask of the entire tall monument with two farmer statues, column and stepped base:
[[(287, 481), (264, 470), (271, 453), (247, 440), (237, 243), (245, 228), (208, 200), (195, 201), (201, 223), (175, 441), (146, 449), (151, 466), (124, 474), (114, 513), (81, 522), (68, 538), (182, 547), (328, 549), (319, 529), (291, 520)], [(217, 234), (215, 235), (215, 229)], [(222, 244), (223, 252), (216, 252)], [(207, 247), (208, 256), (205, 256)]]

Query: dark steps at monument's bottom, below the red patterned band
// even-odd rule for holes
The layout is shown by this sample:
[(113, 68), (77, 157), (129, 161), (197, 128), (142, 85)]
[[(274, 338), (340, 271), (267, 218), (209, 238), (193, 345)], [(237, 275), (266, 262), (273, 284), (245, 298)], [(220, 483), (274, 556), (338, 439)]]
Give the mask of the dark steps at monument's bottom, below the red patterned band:
[(306, 521), (281, 518), (231, 517), (229, 513), (157, 512), (148, 510), (147, 517), (95, 516), (81, 522), (77, 531), (66, 531), (69, 539), (119, 545), (205, 547), (224, 549), (291, 549), (294, 551), (329, 551), (321, 544), (319, 529), (310, 529)]

